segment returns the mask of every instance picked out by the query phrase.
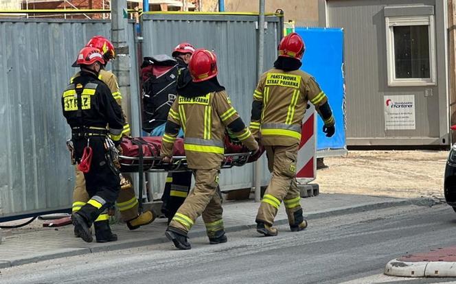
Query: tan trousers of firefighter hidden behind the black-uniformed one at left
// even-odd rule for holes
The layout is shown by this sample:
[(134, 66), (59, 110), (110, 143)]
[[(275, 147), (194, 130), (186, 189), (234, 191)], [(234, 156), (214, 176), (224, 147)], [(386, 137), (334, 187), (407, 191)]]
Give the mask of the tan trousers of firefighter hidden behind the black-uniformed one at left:
[[(87, 193), (85, 188), (84, 174), (78, 169), (78, 166), (75, 167), (75, 176), (75, 185), (73, 189), (73, 213), (77, 212), (87, 203), (87, 201), (89, 201), (89, 193)], [(130, 180), (130, 184), (133, 184), (133, 182), (131, 182), (130, 175), (124, 174), (123, 176), (124, 178)], [(138, 200), (136, 198), (135, 189), (133, 189), (133, 187), (121, 189), (116, 205), (120, 211), (122, 220), (128, 222), (135, 219), (138, 216)]]

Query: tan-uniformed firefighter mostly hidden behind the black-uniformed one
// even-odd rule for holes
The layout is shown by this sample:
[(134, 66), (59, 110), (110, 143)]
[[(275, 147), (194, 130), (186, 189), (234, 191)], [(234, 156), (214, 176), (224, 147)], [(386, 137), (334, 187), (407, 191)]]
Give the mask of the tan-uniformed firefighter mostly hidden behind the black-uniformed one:
[[(106, 65), (109, 60), (115, 57), (113, 44), (103, 36), (94, 36), (93, 38), (91, 38), (91, 40), (89, 40), (87, 46), (100, 49), (105, 60), (104, 65)], [(73, 78), (71, 78), (71, 82), (73, 82), (73, 80), (77, 78), (79, 75), (80, 73), (76, 73), (76, 75), (74, 75)], [(98, 74), (98, 79), (100, 79), (107, 86), (109, 86), (109, 89), (111, 90), (111, 93), (113, 94), (115, 101), (122, 108), (122, 95), (120, 93), (119, 85), (117, 84), (117, 78), (115, 77), (115, 75), (110, 71), (101, 69), (100, 73)], [(130, 125), (126, 120), (126, 116), (123, 111), (122, 116), (124, 117), (125, 121), (124, 129), (122, 130), (122, 136), (130, 136)], [(119, 147), (119, 149), (122, 148)], [(85, 186), (84, 174), (82, 174), (82, 171), (80, 171), (78, 167), (75, 168), (76, 180), (75, 187), (73, 189), (73, 213), (76, 213), (89, 200), (89, 195), (87, 194)], [(124, 181), (124, 185), (122, 186), (121, 191), (119, 192), (119, 197), (117, 198), (116, 205), (120, 211), (122, 220), (126, 222), (128, 228), (130, 228), (130, 230), (135, 230), (136, 228), (139, 228), (139, 226), (150, 224), (151, 222), (153, 222), (153, 220), (155, 219), (155, 215), (150, 211), (138, 214), (139, 204), (135, 195), (135, 189), (133, 189), (133, 187), (131, 186), (130, 176), (124, 175), (124, 177), (128, 181)], [(102, 217), (100, 217), (100, 220), (106, 218), (107, 216), (103, 215)]]

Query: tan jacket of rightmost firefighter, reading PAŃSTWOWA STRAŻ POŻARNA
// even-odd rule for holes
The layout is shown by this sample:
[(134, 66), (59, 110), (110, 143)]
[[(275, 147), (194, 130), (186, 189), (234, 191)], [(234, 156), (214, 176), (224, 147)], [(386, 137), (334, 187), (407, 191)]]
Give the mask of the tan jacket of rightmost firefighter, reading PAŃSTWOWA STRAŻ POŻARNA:
[[(264, 145), (289, 146), (301, 141), (307, 102), (319, 106), (328, 101), (315, 79), (301, 70), (271, 69), (264, 73), (253, 93), (250, 129)], [(323, 119), (334, 125), (332, 115)]]

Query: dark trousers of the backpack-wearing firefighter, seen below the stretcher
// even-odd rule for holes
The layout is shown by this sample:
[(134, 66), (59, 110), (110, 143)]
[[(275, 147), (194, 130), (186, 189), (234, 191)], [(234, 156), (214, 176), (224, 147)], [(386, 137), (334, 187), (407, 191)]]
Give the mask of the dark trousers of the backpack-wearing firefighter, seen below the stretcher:
[(161, 212), (171, 222), (177, 209), (183, 204), (192, 186), (192, 171), (170, 172), (166, 177), (165, 189), (161, 201)]

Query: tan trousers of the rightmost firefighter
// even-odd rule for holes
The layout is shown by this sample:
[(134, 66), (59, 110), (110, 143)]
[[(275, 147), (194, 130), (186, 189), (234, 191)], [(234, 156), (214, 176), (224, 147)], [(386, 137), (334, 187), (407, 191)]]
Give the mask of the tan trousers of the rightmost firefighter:
[(302, 222), (301, 196), (296, 182), (296, 161), (299, 144), (290, 146), (265, 146), (271, 180), (264, 192), (256, 222), (269, 226), (274, 223), (282, 201), (290, 226)]

